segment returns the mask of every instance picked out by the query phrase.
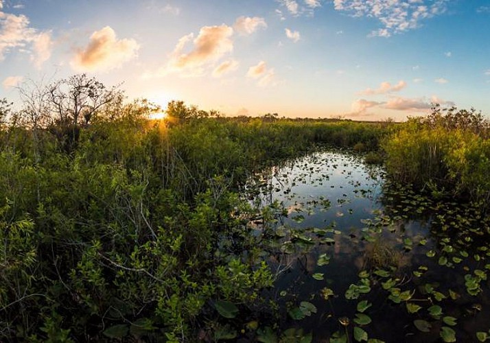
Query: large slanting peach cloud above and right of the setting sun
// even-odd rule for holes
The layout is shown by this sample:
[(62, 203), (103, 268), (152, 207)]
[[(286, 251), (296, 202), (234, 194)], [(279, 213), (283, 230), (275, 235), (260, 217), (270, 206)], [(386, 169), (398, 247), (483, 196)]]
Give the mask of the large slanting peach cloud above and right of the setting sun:
[[(215, 62), (233, 51), (233, 28), (228, 25), (201, 27), (198, 36), (187, 34), (178, 40), (165, 66), (156, 73), (145, 73), (143, 77), (163, 76), (180, 73), (182, 76), (204, 75), (205, 69), (214, 67)], [(191, 51), (184, 52), (192, 43)]]

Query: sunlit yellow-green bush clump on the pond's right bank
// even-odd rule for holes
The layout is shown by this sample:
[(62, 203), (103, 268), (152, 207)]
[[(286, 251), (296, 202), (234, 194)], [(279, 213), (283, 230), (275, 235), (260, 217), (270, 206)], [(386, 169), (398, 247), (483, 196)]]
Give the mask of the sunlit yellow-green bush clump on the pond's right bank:
[(434, 196), (450, 193), (488, 203), (489, 134), (489, 122), (476, 110), (436, 106), (383, 140), (386, 169), (397, 182), (425, 187)]

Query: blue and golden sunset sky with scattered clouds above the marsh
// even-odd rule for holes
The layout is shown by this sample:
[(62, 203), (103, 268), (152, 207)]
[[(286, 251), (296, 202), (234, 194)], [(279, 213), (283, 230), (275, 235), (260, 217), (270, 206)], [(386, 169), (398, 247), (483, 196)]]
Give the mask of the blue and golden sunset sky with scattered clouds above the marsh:
[(0, 98), (76, 73), (224, 115), (490, 116), (490, 0), (0, 0)]

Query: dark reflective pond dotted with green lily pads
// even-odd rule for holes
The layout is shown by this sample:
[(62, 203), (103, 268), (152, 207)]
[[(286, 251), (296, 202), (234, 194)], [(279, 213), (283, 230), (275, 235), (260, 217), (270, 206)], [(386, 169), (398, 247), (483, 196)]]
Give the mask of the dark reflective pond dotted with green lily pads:
[(250, 189), (263, 213), (251, 226), (277, 274), (260, 342), (490, 335), (489, 220), (474, 206), (390, 185), (338, 150), (281, 163)]

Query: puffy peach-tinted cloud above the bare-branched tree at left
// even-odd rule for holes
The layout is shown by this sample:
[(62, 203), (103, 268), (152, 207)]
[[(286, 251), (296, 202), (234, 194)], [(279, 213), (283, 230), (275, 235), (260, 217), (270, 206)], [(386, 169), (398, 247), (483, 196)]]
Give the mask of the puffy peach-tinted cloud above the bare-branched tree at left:
[(89, 45), (78, 49), (70, 64), (77, 71), (108, 71), (135, 58), (138, 49), (136, 40), (117, 39), (115, 31), (106, 26), (93, 32)]

